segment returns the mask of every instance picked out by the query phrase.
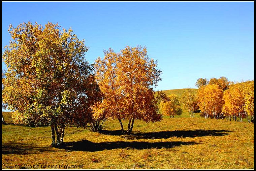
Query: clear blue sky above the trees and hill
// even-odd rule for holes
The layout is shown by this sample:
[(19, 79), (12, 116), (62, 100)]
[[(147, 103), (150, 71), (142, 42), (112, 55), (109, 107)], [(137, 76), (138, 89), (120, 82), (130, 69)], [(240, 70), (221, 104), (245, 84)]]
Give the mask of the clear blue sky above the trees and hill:
[(154, 90), (254, 79), (254, 2), (2, 2), (2, 53), (8, 26), (28, 21), (71, 27), (90, 63), (109, 47), (146, 46), (163, 71)]

